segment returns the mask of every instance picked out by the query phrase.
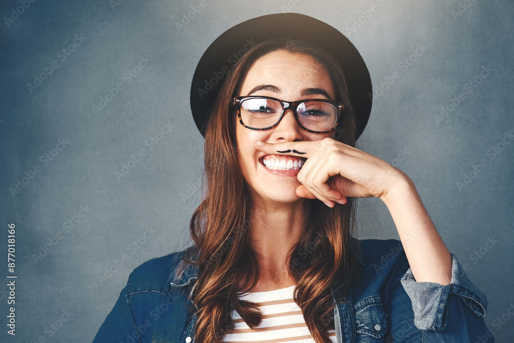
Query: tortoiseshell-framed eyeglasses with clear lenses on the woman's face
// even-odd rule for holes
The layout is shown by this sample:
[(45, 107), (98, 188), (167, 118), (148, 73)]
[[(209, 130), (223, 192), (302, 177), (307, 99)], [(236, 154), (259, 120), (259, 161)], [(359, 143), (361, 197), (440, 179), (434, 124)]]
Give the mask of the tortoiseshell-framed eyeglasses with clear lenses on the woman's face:
[(312, 133), (331, 132), (337, 126), (344, 104), (325, 99), (284, 101), (271, 97), (243, 96), (231, 100), (237, 106), (239, 122), (251, 130), (268, 130), (277, 125), (286, 110), (292, 110), (300, 127)]

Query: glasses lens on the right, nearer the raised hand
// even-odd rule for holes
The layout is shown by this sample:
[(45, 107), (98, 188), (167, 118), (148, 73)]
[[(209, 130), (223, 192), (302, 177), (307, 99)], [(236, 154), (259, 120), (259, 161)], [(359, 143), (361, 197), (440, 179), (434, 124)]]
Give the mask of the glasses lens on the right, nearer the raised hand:
[(302, 102), (296, 111), (303, 127), (312, 131), (331, 130), (336, 124), (336, 106), (327, 102)]

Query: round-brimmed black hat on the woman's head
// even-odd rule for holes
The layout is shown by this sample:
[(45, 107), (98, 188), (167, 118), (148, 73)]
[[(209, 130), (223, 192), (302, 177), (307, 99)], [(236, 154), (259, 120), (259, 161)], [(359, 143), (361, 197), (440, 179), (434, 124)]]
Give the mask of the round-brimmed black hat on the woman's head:
[(338, 30), (298, 13), (268, 14), (237, 24), (223, 32), (204, 52), (191, 83), (191, 112), (205, 137), (208, 113), (229, 70), (254, 45), (271, 38), (316, 43), (339, 62), (350, 91), (360, 136), (370, 117), (373, 89), (368, 68), (355, 46)]

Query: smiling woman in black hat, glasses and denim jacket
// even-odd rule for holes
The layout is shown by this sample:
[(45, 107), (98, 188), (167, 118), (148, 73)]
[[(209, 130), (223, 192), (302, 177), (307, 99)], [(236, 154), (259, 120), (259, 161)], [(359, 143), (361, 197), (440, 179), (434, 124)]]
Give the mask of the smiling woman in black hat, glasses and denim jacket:
[[(494, 341), (410, 178), (354, 147), (371, 90), (355, 47), (305, 15), (211, 44), (191, 87), (194, 245), (136, 268), (95, 341)], [(371, 196), (401, 243), (352, 238), (354, 198)]]

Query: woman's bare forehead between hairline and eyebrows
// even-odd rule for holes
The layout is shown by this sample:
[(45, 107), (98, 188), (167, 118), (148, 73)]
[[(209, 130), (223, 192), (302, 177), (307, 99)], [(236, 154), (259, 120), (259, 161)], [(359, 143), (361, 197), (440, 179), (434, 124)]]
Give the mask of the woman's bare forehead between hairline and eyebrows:
[(297, 97), (304, 88), (322, 88), (333, 100), (336, 98), (326, 68), (304, 53), (278, 50), (259, 58), (248, 69), (240, 95), (248, 95), (252, 88), (262, 84), (277, 86), (286, 100), (293, 100), (291, 97)]

